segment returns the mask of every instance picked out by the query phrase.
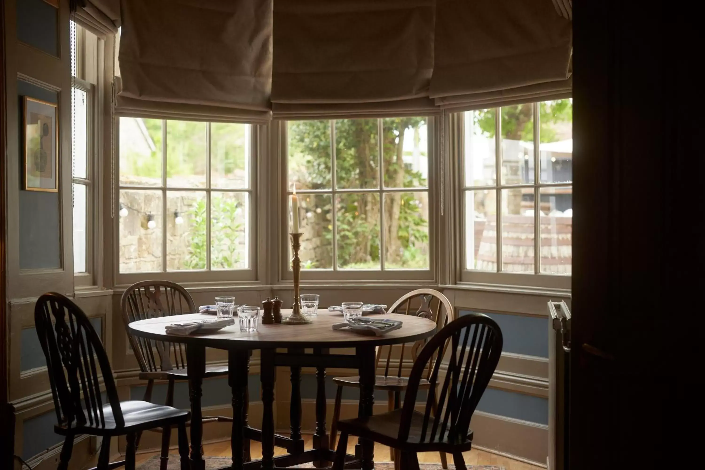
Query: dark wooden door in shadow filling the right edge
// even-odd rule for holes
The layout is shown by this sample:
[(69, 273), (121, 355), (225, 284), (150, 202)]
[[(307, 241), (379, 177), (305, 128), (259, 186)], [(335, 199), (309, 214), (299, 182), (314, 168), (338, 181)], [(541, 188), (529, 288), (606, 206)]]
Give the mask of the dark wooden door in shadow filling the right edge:
[(675, 466), (700, 447), (702, 26), (673, 1), (573, 5), (570, 469)]

